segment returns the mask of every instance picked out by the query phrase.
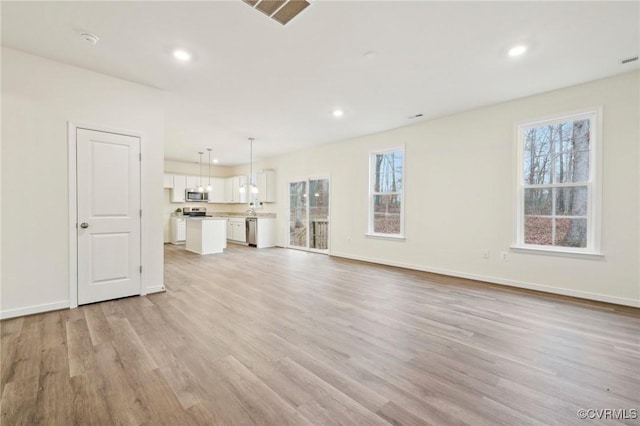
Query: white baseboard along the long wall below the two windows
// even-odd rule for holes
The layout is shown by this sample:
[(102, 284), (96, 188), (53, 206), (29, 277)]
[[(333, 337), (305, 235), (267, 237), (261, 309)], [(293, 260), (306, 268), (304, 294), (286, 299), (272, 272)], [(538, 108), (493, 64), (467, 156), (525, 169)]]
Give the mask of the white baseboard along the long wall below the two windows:
[(640, 308), (640, 300), (608, 296), (606, 294), (589, 293), (586, 291), (572, 290), (572, 289), (562, 288), (562, 287), (553, 287), (553, 286), (542, 285), (542, 284), (534, 284), (534, 283), (528, 283), (525, 281), (505, 280), (503, 278), (491, 277), (487, 275), (476, 275), (476, 274), (468, 274), (466, 272), (450, 271), (447, 269), (429, 268), (421, 265), (412, 265), (412, 264), (407, 264), (402, 262), (393, 262), (393, 261), (388, 261), (384, 259), (373, 259), (373, 258), (364, 257), (364, 256), (353, 256), (345, 253), (332, 252), (331, 256), (343, 257), (345, 259), (360, 260), (363, 262), (378, 263), (381, 265), (397, 266), (399, 268), (431, 272), (431, 273), (440, 274), (440, 275), (449, 275), (452, 277), (466, 278), (466, 279), (476, 280), (476, 281), (484, 281), (491, 284), (499, 284), (499, 285), (504, 285), (509, 287), (526, 288), (528, 290), (542, 291), (545, 293), (559, 294), (562, 296), (571, 296), (571, 297), (577, 297), (580, 299), (595, 300), (598, 302), (607, 302), (607, 303), (613, 303), (616, 305), (632, 306), (634, 308)]

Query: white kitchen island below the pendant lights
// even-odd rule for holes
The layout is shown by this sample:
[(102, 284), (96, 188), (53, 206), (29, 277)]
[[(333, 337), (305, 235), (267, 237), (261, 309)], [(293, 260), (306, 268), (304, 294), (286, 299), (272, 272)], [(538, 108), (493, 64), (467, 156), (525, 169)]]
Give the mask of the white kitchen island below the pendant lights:
[(198, 254), (222, 253), (227, 248), (225, 217), (190, 217), (187, 219), (185, 249)]

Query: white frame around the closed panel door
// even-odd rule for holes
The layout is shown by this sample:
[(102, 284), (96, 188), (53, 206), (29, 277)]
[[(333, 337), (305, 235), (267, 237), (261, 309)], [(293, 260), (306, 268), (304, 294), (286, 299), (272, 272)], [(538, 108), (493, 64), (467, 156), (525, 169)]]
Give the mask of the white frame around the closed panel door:
[(142, 265), (142, 272), (140, 273), (140, 295), (143, 296), (146, 294), (144, 289), (146, 289), (146, 285), (144, 285), (146, 281), (146, 272), (145, 265), (147, 264), (147, 259), (145, 256), (145, 251), (142, 250), (144, 246), (144, 241), (147, 239), (147, 230), (143, 226), (146, 212), (149, 211), (149, 206), (147, 205), (146, 197), (143, 197), (143, 191), (146, 191), (147, 184), (146, 179), (143, 179), (143, 176), (146, 176), (146, 165), (145, 165), (145, 155), (143, 153), (146, 152), (146, 135), (142, 132), (134, 131), (134, 130), (126, 130), (115, 127), (102, 126), (98, 124), (87, 124), (81, 123), (77, 121), (69, 121), (67, 123), (67, 140), (68, 140), (68, 154), (69, 154), (69, 168), (68, 168), (68, 177), (69, 177), (69, 307), (77, 308), (78, 307), (78, 193), (77, 193), (77, 130), (85, 129), (85, 130), (93, 130), (96, 132), (104, 132), (104, 133), (114, 133), (123, 136), (133, 136), (140, 139), (140, 208), (142, 209), (142, 214), (140, 216), (140, 265)]

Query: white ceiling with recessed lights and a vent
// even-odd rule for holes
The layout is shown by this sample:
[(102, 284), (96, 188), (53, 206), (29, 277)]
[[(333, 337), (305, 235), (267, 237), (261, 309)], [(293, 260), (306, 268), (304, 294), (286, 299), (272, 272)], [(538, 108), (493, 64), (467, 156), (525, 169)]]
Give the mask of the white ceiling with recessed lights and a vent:
[(637, 1), (317, 0), (284, 27), (240, 0), (3, 1), (2, 45), (165, 90), (165, 157), (230, 165), (248, 137), (267, 157), (637, 69), (639, 22)]

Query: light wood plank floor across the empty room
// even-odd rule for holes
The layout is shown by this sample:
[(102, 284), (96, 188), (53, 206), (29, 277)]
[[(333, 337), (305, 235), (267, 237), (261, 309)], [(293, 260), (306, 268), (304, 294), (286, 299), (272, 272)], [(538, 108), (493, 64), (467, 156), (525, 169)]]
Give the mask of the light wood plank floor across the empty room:
[[(639, 310), (284, 249), (2, 328), (2, 425), (570, 425), (640, 405)], [(638, 424), (637, 420), (622, 423)]]

